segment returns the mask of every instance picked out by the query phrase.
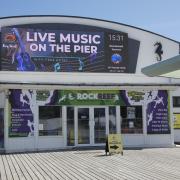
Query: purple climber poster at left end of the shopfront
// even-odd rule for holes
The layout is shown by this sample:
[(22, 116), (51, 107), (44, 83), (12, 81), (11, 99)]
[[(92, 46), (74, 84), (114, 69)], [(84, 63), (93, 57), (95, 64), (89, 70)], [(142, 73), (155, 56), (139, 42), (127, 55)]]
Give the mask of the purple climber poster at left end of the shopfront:
[(33, 91), (9, 90), (9, 137), (34, 136)]

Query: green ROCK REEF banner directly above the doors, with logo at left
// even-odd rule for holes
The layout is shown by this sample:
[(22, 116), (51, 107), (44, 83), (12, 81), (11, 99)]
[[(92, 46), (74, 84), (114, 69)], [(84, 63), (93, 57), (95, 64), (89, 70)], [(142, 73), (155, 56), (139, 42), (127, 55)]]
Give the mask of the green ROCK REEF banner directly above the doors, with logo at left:
[(124, 105), (119, 90), (37, 91), (38, 105)]

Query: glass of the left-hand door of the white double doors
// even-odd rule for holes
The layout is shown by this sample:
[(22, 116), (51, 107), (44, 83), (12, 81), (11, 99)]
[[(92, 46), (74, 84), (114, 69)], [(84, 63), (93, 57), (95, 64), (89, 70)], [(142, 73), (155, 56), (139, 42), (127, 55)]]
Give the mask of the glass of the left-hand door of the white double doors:
[(90, 144), (89, 108), (78, 108), (78, 144)]

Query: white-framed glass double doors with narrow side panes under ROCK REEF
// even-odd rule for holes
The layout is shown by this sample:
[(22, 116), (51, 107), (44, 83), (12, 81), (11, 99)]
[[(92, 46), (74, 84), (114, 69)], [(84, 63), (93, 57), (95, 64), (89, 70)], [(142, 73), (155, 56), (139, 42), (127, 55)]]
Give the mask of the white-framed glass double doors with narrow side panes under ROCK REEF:
[(67, 145), (104, 144), (107, 134), (116, 133), (116, 117), (116, 106), (67, 107)]

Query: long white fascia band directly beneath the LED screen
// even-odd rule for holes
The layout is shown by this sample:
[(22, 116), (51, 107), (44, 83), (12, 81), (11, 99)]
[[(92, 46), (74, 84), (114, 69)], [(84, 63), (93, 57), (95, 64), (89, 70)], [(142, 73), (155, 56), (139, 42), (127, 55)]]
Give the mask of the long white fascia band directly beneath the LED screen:
[[(112, 81), (113, 80), (113, 81)], [(14, 84), (67, 84), (67, 85), (173, 85), (170, 78), (147, 77), (128, 73), (65, 73), (65, 72), (14, 72), (1, 71), (0, 82)], [(3, 85), (3, 86), (4, 86)], [(37, 85), (36, 85), (37, 86)]]

